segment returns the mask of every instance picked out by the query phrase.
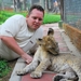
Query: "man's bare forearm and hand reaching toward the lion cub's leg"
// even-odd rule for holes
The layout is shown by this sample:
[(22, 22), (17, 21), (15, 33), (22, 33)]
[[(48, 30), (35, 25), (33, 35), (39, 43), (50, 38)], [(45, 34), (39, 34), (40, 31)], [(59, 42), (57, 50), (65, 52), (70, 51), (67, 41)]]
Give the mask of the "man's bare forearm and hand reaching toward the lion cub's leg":
[(32, 60), (32, 57), (26, 54), (16, 43), (13, 37), (1, 36), (0, 39), (10, 48), (12, 51), (21, 55), (28, 64)]

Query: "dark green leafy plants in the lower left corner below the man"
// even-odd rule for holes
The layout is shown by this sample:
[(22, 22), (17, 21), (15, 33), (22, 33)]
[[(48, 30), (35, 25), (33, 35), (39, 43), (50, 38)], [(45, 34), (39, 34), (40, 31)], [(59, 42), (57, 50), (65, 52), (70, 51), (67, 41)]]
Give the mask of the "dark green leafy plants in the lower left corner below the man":
[(6, 60), (0, 59), (0, 78), (8, 75), (10, 70), (11, 70), (11, 68), (8, 66)]

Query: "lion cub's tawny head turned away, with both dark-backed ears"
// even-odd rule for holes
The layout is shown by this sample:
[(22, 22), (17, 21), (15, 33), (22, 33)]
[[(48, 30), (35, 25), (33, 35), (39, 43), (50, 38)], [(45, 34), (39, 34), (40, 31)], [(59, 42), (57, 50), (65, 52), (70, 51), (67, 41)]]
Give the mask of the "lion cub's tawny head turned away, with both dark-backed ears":
[(46, 36), (37, 40), (37, 44), (51, 54), (58, 55), (59, 53), (58, 43), (54, 39), (54, 30), (52, 28), (49, 28)]

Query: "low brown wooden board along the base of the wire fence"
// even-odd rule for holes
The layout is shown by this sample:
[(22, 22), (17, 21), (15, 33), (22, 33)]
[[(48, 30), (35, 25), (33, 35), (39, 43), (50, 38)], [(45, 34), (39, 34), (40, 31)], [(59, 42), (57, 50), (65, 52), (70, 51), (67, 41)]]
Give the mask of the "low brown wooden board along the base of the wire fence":
[(65, 32), (69, 36), (72, 43), (77, 46), (77, 49), (81, 51), (81, 30), (68, 24), (63, 24), (63, 28), (65, 29)]

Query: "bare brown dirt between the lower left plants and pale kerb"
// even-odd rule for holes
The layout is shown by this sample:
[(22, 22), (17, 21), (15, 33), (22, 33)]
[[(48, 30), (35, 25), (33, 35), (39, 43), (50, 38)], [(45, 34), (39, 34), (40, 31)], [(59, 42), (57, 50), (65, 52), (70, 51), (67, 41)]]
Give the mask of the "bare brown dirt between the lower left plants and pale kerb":
[(5, 77), (0, 78), (0, 81), (9, 81), (9, 79), (10, 79), (10, 77), (11, 77), (11, 73), (12, 73), (12, 71), (13, 71), (13, 69), (14, 69), (14, 66), (15, 66), (15, 64), (16, 64), (16, 60), (17, 60), (17, 59), (14, 59), (14, 60), (12, 60), (12, 62), (8, 62), (9, 67), (11, 67), (11, 70), (10, 70), (10, 72), (9, 72)]

